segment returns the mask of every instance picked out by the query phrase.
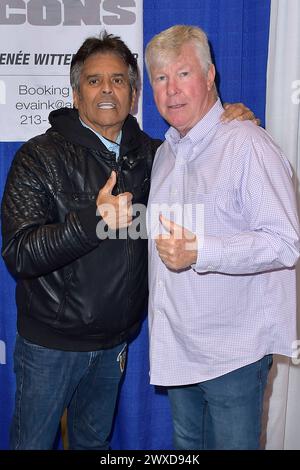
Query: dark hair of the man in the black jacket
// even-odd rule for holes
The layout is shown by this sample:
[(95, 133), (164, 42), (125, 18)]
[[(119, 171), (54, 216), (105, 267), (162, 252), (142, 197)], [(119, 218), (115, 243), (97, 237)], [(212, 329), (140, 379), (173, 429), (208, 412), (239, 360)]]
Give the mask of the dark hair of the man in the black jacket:
[(128, 75), (131, 90), (137, 90), (139, 72), (137, 60), (119, 36), (108, 34), (105, 30), (99, 37), (87, 38), (71, 62), (70, 82), (73, 90), (80, 91), (80, 75), (84, 62), (94, 54), (115, 54), (128, 65)]

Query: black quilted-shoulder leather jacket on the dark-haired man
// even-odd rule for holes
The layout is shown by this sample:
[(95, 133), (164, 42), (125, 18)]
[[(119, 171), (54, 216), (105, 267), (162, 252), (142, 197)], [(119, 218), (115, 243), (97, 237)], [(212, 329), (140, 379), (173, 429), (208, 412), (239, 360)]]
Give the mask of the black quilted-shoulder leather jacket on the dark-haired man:
[(147, 240), (99, 240), (95, 200), (115, 170), (113, 194), (129, 191), (133, 203), (146, 204), (160, 142), (129, 116), (116, 161), (76, 110), (54, 111), (50, 123), (17, 152), (2, 201), (2, 254), (17, 278), (18, 331), (48, 348), (110, 348), (138, 331)]

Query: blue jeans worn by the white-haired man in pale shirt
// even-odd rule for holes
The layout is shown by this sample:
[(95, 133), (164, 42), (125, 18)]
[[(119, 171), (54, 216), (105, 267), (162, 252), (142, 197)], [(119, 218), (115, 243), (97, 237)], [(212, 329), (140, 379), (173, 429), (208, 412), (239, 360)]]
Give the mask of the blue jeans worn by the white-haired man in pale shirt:
[(170, 387), (174, 448), (259, 449), (272, 355), (212, 380)]

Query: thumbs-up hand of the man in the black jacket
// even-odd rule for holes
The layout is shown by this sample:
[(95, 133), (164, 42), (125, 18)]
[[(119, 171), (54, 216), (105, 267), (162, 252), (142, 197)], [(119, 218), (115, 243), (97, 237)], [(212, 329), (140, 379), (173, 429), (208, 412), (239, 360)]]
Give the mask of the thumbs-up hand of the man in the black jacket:
[(132, 194), (126, 192), (113, 196), (112, 190), (116, 182), (116, 172), (112, 171), (96, 201), (102, 219), (112, 230), (126, 228), (132, 223)]

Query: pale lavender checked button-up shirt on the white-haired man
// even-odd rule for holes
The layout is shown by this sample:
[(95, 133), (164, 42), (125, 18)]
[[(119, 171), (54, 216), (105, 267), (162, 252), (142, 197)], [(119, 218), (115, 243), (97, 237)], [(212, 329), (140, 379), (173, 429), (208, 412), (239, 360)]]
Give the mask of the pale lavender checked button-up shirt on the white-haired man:
[[(263, 129), (222, 123), (222, 112), (218, 100), (183, 138), (170, 128), (153, 165), (147, 215), (156, 385), (198, 383), (293, 352), (299, 223), (290, 165)], [(172, 205), (173, 219), (197, 234), (200, 247), (196, 264), (181, 272), (162, 263), (153, 240), (162, 231), (158, 212), (170, 218)]]

